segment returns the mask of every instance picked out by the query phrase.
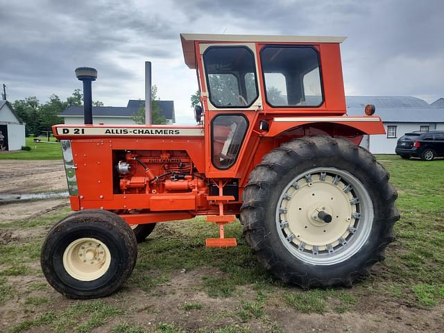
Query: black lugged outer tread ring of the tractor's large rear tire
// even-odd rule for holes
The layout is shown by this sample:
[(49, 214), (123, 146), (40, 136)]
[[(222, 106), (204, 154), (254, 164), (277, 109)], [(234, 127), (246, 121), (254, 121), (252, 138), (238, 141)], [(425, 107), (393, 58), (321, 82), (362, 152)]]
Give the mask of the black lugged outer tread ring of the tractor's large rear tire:
[[(370, 172), (368, 176), (379, 187), (386, 204), (386, 208), (382, 212), (382, 216), (380, 216), (380, 219), (384, 220), (385, 226), (377, 250), (357, 271), (352, 271), (343, 278), (307, 280), (301, 278), (298, 273), (288, 273), (286, 267), (280, 264), (279, 259), (267, 243), (268, 231), (264, 228), (264, 223), (262, 223), (266, 210), (265, 203), (267, 203), (269, 193), (280, 178), (280, 175), (309, 160), (316, 154), (322, 154), (325, 157), (339, 155), (344, 160), (355, 164), (356, 168), (366, 169), (366, 171)], [(359, 164), (364, 164), (364, 167), (357, 165), (356, 161), (359, 161)], [(355, 280), (370, 274), (370, 267), (373, 264), (384, 260), (386, 246), (395, 239), (393, 225), (400, 218), (398, 210), (394, 205), (398, 194), (393, 186), (388, 183), (389, 178), (389, 173), (369, 151), (352, 144), (347, 139), (323, 135), (302, 137), (286, 142), (263, 157), (262, 162), (250, 173), (248, 184), (244, 188), (244, 203), (241, 206), (241, 216), (244, 221), (246, 243), (250, 246), (258, 261), (268, 271), (271, 271), (273, 275), (285, 282), (296, 284), (302, 289), (309, 289), (311, 287), (330, 288), (339, 285), (350, 287)]]

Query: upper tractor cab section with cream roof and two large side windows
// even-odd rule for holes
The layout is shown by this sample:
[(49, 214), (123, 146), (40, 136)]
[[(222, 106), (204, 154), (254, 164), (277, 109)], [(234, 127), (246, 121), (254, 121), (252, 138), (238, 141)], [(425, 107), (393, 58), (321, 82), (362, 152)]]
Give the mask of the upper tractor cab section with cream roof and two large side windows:
[[(345, 113), (344, 37), (181, 34), (205, 110)], [(322, 66), (321, 66), (322, 62)], [(332, 94), (342, 95), (330, 101)], [(342, 110), (339, 110), (342, 109)], [(294, 110), (292, 111), (294, 112)]]

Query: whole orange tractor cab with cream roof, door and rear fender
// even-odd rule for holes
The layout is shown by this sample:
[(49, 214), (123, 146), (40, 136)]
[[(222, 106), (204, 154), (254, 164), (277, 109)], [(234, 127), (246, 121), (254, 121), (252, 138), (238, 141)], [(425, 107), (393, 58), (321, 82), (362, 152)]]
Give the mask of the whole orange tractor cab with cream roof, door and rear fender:
[(384, 133), (377, 117), (343, 117), (339, 46), (345, 37), (180, 37), (185, 63), (198, 76), (202, 105), (195, 114), (210, 137), (205, 149), (212, 176), (221, 176), (221, 171), (239, 175), (239, 156), (248, 155), (249, 143), (258, 135), (287, 141), (307, 132), (334, 135), (336, 129), (359, 144), (364, 133)]

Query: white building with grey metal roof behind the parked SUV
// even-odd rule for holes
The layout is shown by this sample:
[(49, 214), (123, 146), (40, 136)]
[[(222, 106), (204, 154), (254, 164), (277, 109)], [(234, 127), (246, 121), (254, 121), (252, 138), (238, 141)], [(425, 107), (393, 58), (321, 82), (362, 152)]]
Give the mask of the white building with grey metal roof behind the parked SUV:
[(444, 105), (429, 104), (412, 96), (346, 96), (347, 114), (364, 114), (367, 104), (376, 107), (386, 129), (384, 135), (364, 137), (361, 146), (374, 154), (394, 154), (396, 142), (405, 133), (413, 131), (444, 130)]

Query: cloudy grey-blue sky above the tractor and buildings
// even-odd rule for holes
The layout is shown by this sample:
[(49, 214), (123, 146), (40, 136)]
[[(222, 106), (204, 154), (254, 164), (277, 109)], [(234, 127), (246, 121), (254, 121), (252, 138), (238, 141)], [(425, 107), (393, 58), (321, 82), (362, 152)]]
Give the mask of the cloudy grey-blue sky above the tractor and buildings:
[(328, 35), (341, 45), (347, 95), (444, 96), (444, 1), (0, 0), (0, 84), (8, 100), (82, 85), (76, 67), (95, 67), (93, 99), (125, 106), (144, 99), (144, 62), (176, 123), (192, 124), (196, 73), (179, 33)]

